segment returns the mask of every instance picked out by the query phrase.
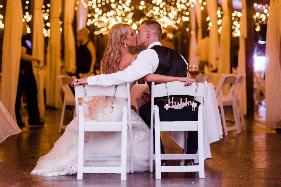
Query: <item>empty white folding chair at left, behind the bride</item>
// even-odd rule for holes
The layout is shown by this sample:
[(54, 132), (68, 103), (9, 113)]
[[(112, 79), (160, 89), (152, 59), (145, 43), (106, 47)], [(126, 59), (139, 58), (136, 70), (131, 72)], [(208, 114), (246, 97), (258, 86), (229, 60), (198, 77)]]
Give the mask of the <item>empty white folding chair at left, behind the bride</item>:
[(61, 120), (59, 122), (59, 133), (60, 133), (61, 129), (66, 128), (66, 125), (63, 125), (66, 105), (74, 106), (73, 118), (76, 116), (76, 110), (75, 110), (75, 97), (69, 86), (72, 83), (73, 78), (65, 75), (58, 75), (57, 78), (59, 79), (59, 84), (61, 85), (61, 89), (64, 91), (64, 102), (61, 109)]

